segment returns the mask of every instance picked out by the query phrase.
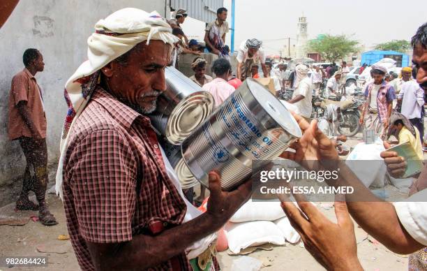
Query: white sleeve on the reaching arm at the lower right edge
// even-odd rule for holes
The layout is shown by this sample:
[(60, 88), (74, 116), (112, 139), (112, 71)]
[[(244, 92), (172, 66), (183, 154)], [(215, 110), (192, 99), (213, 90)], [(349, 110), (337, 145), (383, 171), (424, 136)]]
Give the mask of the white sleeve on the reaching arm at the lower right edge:
[[(405, 202), (394, 203), (400, 223), (420, 244), (427, 246), (427, 189), (407, 198)], [(417, 201), (418, 200), (418, 201)]]

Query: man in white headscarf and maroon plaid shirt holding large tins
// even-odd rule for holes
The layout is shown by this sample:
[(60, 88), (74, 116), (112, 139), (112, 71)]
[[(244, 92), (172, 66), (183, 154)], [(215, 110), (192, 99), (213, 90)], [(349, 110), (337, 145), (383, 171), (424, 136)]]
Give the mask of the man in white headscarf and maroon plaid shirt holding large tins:
[(223, 192), (209, 173), (207, 212), (195, 210), (147, 117), (166, 89), (172, 29), (136, 8), (95, 29), (89, 59), (66, 82), (56, 184), (80, 268), (216, 269), (215, 233), (248, 198), (250, 182)]

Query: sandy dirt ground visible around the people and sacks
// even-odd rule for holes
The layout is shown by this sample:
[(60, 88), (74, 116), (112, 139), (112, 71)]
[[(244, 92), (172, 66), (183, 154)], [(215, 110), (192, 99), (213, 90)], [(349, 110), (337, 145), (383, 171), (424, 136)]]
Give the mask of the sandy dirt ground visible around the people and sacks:
[[(360, 138), (348, 142), (355, 145)], [(53, 179), (52, 179), (53, 180)], [(392, 193), (394, 188), (387, 186)], [(1, 192), (1, 191), (0, 191)], [(9, 198), (12, 196), (9, 196)], [(1, 217), (24, 219), (24, 226), (0, 226), (0, 258), (16, 256), (47, 256), (45, 267), (6, 267), (2, 270), (80, 270), (73, 253), (70, 240), (58, 240), (59, 235), (67, 235), (65, 214), (61, 200), (52, 194), (47, 196), (47, 204), (51, 212), (57, 217), (59, 225), (47, 227), (34, 222), (29, 217), (37, 212), (15, 212), (15, 203), (0, 208)], [(335, 221), (334, 207), (328, 203), (317, 204), (317, 207), (332, 221)], [(23, 222), (25, 223), (25, 222)], [(365, 270), (407, 270), (407, 256), (400, 256), (386, 249), (364, 230), (355, 224), (357, 249), (359, 259)], [(45, 251), (45, 252), (40, 252)], [(257, 250), (248, 256), (257, 258), (264, 263), (262, 270), (323, 270), (308, 254), (304, 244), (287, 244), (274, 247), (271, 251)], [(230, 256), (227, 251), (218, 254), (218, 261), (223, 270), (232, 270), (232, 263), (241, 256)]]

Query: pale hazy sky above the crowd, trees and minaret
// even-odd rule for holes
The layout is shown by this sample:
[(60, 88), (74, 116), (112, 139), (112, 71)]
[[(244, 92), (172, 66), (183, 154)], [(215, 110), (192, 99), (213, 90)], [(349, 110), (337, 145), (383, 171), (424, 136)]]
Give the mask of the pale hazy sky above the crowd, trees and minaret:
[[(231, 0), (225, 0), (224, 6), (230, 21)], [(303, 13), (309, 39), (318, 34), (345, 34), (370, 50), (394, 39), (409, 41), (427, 22), (427, 0), (236, 0), (234, 50), (246, 38), (259, 38), (267, 53), (277, 54), (287, 41), (274, 40), (297, 38), (297, 22)]]

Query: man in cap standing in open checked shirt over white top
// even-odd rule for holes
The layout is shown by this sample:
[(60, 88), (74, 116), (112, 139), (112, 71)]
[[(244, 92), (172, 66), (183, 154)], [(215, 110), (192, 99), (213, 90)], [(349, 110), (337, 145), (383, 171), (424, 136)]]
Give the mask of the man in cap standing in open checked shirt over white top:
[(364, 103), (360, 124), (365, 124), (368, 130), (374, 130), (377, 136), (384, 137), (384, 129), (389, 126), (389, 117), (396, 98), (394, 88), (384, 81), (387, 68), (380, 65), (372, 66), (373, 82), (368, 83), (364, 90)]

